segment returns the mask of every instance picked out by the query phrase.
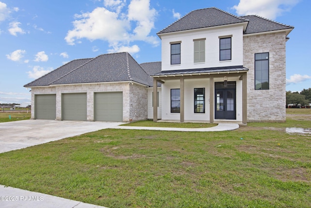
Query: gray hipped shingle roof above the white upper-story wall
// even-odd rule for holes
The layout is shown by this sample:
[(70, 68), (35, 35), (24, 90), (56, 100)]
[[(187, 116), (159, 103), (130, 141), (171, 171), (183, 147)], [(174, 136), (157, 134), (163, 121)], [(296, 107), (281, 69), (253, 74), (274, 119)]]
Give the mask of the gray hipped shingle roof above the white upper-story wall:
[(218, 8), (198, 9), (175, 21), (157, 34), (247, 22)]

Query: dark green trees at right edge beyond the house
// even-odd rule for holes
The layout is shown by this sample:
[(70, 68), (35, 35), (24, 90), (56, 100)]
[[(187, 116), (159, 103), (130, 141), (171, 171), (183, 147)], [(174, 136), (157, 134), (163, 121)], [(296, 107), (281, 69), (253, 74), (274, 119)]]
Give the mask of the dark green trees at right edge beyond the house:
[(286, 92), (286, 107), (288, 105), (293, 104), (295, 106), (301, 105), (309, 105), (311, 103), (311, 88), (303, 89), (300, 93), (299, 92)]

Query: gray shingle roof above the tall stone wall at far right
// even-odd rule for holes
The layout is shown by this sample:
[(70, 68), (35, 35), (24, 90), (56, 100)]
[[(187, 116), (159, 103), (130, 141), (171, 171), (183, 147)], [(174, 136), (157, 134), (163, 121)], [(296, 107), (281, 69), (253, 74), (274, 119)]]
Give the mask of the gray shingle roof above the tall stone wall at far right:
[(293, 26), (281, 24), (270, 19), (265, 19), (256, 15), (244, 16), (248, 19), (248, 25), (244, 34), (261, 33), (275, 30), (293, 29)]

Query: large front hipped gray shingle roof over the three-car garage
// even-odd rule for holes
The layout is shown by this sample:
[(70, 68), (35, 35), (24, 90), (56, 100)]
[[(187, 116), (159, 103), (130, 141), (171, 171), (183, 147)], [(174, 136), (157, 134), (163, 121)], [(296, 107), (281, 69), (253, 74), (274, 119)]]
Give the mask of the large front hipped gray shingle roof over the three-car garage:
[[(75, 62), (77, 60), (71, 61)], [(69, 63), (71, 63), (69, 62)], [(70, 68), (72, 66), (72, 68)], [(63, 72), (65, 70), (66, 72)], [(88, 59), (83, 65), (65, 64), (50, 73), (53, 79), (44, 76), (24, 85), (24, 87), (48, 86), (56, 84), (82, 84), (97, 82), (135, 81), (150, 86), (150, 76), (128, 53), (104, 54)]]

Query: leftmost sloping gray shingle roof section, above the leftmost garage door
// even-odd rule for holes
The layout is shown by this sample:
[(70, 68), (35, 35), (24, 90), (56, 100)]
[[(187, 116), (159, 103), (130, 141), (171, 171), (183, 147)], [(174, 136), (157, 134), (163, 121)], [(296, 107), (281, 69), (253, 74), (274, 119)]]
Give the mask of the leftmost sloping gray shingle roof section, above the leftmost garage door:
[(24, 87), (49, 86), (51, 82), (57, 80), (59, 77), (67, 75), (72, 70), (79, 68), (90, 60), (92, 60), (92, 58), (72, 60), (67, 64), (53, 70), (52, 72), (41, 76), (40, 78), (37, 78), (28, 84), (25, 84)]

